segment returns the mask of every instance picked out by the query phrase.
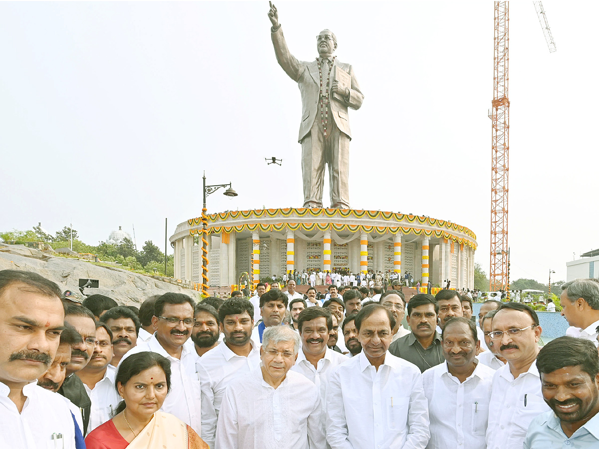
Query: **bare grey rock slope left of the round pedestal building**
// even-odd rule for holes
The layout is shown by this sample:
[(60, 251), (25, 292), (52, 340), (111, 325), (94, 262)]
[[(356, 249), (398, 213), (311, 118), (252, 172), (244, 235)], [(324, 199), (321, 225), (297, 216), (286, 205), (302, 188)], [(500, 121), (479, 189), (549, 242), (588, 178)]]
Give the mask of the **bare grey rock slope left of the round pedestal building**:
[(79, 278), (100, 281), (99, 289), (85, 289), (86, 295), (106, 295), (122, 305), (139, 306), (152, 295), (184, 293), (199, 299), (199, 292), (122, 268), (93, 265), (77, 259), (56, 257), (23, 245), (0, 242), (0, 270), (33, 271), (59, 284), (60, 289), (79, 293)]

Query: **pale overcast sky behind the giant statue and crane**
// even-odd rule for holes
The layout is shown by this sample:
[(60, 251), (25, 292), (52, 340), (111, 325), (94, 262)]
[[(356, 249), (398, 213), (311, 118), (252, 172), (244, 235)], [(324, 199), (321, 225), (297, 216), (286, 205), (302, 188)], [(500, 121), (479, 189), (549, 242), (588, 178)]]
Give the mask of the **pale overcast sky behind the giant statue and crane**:
[[(556, 53), (533, 2), (510, 2), (509, 244), (512, 280), (547, 283), (599, 247), (599, 6), (543, 4)], [(352, 207), (470, 227), (488, 273), (492, 2), (276, 5), (298, 59), (335, 32), (365, 95), (350, 111)], [(0, 3), (0, 230), (72, 217), (89, 244), (135, 225), (138, 248), (164, 247), (165, 217), (170, 236), (201, 214), (204, 170), (239, 193), (214, 193), (210, 212), (301, 207), (301, 101), (267, 13), (266, 1)]]

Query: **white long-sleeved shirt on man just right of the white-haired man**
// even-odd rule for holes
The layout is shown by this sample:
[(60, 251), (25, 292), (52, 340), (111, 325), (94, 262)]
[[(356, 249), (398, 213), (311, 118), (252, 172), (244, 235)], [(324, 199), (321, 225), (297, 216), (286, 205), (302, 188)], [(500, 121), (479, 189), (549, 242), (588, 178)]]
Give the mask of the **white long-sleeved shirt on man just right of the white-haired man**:
[(332, 449), (424, 449), (428, 427), (416, 365), (387, 352), (377, 371), (361, 352), (329, 377), (326, 441)]

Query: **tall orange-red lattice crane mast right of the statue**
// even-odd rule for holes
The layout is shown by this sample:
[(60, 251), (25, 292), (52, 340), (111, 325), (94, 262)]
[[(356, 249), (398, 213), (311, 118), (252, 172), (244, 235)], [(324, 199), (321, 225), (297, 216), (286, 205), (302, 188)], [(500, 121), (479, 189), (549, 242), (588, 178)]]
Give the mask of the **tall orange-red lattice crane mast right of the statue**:
[(491, 268), (489, 290), (508, 288), (507, 181), (509, 173), (510, 101), (507, 95), (509, 66), (508, 4), (495, 2), (494, 78), (491, 108)]

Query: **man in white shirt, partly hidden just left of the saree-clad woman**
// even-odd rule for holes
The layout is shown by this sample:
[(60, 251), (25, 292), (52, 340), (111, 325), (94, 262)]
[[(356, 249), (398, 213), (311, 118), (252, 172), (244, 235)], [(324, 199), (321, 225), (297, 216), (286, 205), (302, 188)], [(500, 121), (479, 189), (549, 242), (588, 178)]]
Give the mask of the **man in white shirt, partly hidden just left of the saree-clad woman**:
[(92, 406), (87, 433), (112, 418), (120, 398), (114, 386), (116, 368), (110, 364), (113, 358), (113, 335), (105, 323), (96, 322), (96, 342), (92, 357), (85, 368), (77, 375), (89, 397)]

